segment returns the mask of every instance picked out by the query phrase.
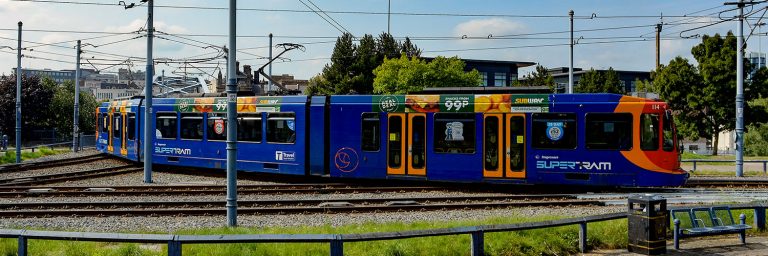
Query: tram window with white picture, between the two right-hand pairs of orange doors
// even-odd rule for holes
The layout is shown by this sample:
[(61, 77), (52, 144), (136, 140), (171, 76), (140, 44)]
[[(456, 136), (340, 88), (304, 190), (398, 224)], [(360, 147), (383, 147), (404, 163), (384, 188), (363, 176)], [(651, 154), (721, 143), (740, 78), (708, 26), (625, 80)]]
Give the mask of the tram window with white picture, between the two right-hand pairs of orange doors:
[(435, 153), (475, 153), (475, 114), (435, 114)]

